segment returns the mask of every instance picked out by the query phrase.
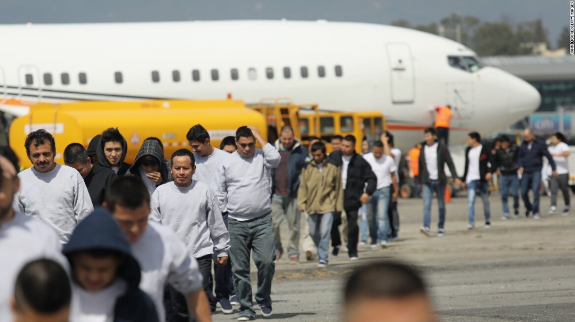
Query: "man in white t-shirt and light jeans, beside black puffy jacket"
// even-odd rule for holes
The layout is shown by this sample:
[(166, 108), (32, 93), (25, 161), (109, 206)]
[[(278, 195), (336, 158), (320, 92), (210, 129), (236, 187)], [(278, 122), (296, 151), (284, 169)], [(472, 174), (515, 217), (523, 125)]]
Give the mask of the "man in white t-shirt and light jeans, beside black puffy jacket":
[[(377, 176), (377, 190), (371, 195), (367, 203), (367, 213), (369, 214), (371, 245), (376, 245), (379, 237), (381, 248), (387, 248), (388, 245), (389, 231), (391, 229), (388, 215), (389, 204), (391, 201), (397, 200), (399, 191), (395, 176), (397, 168), (393, 158), (384, 154), (384, 145), (387, 144), (387, 142), (382, 143), (381, 141), (374, 142), (371, 149), (372, 152), (363, 156), (363, 159), (370, 164), (371, 170)], [(391, 192), (392, 184), (393, 194)], [(379, 236), (377, 234), (378, 230)]]

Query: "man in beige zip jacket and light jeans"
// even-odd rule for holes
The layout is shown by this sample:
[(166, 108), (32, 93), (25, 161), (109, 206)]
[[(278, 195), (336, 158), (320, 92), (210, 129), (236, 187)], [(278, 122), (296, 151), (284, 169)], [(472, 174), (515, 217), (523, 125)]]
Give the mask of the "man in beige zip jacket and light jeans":
[(302, 171), (297, 204), (309, 215), (309, 234), (317, 246), (320, 268), (328, 263), (329, 238), (333, 212), (342, 211), (341, 169), (325, 158), (325, 144), (312, 145), (313, 161)]

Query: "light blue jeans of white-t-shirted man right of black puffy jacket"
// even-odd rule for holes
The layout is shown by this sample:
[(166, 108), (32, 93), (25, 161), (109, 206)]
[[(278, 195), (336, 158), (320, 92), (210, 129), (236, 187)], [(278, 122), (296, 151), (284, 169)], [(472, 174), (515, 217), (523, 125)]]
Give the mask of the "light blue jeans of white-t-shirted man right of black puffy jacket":
[(390, 187), (383, 187), (376, 190), (367, 202), (371, 244), (377, 244), (378, 238), (379, 241), (388, 241), (389, 239), (389, 230), (391, 229), (388, 212), (390, 198)]

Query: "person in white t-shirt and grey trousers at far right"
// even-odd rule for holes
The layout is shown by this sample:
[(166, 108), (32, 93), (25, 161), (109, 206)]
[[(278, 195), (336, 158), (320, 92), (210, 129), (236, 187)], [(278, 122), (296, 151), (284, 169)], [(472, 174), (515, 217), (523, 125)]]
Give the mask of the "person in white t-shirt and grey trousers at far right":
[(569, 214), (569, 155), (571, 154), (569, 146), (565, 141), (565, 135), (561, 132), (557, 132), (551, 135), (551, 146), (549, 147), (549, 153), (553, 156), (558, 174), (557, 176), (551, 176), (551, 209), (549, 213), (557, 213), (557, 195), (559, 189), (561, 189), (563, 201), (565, 201), (565, 208), (562, 212), (564, 216)]

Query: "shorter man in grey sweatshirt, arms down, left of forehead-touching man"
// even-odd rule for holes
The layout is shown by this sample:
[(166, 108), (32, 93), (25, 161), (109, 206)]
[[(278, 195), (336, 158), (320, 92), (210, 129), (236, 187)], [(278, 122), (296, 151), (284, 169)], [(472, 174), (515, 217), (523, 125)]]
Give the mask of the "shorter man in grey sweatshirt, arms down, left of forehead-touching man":
[[(171, 158), (174, 181), (159, 186), (152, 194), (150, 219), (171, 227), (196, 258), (213, 312), (216, 300), (212, 292), (212, 254), (217, 254), (218, 265), (227, 264), (229, 234), (208, 184), (192, 179), (196, 171), (194, 163), (191, 151), (174, 152)], [(170, 297), (176, 315), (180, 316), (180, 311), (187, 313), (182, 294), (170, 287)], [(233, 313), (233, 309), (224, 313)]]

